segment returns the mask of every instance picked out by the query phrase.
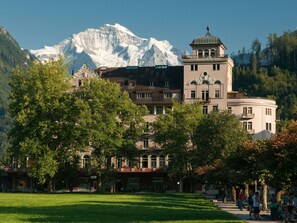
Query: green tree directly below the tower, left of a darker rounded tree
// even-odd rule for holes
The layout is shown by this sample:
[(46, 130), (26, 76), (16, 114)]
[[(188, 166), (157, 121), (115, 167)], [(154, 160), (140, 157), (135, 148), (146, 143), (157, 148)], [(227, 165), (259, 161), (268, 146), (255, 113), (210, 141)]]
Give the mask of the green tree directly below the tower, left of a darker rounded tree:
[(169, 174), (180, 182), (183, 190), (185, 179), (193, 180), (196, 161), (193, 153), (196, 149), (193, 141), (194, 131), (202, 116), (200, 103), (173, 103), (173, 110), (158, 116), (154, 123), (156, 141), (169, 155)]

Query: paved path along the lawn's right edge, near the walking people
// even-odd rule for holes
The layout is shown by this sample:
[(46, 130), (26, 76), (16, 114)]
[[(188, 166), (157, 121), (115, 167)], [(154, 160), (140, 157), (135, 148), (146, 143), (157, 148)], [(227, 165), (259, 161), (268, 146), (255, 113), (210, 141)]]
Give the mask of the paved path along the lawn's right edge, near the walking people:
[(221, 201), (214, 201), (214, 204), (217, 205), (221, 210), (229, 212), (235, 216), (237, 216), (239, 219), (243, 219), (246, 222), (250, 222), (250, 223), (263, 223), (263, 222), (267, 222), (267, 223), (277, 223), (280, 221), (272, 221), (269, 219), (269, 213), (265, 213), (265, 212), (260, 212), (260, 220), (254, 220), (254, 219), (250, 219), (249, 218), (249, 211), (247, 211), (246, 209), (243, 209), (243, 211), (239, 210), (235, 203), (232, 202), (227, 202), (227, 203), (223, 203)]

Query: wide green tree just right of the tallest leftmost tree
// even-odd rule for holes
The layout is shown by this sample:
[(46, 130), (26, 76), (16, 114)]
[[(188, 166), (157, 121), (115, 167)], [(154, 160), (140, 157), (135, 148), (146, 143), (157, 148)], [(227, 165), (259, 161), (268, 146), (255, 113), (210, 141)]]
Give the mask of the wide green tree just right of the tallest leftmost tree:
[(91, 145), (93, 149), (92, 165), (100, 191), (114, 174), (111, 157), (131, 155), (136, 150), (146, 108), (135, 105), (127, 92), (104, 79), (85, 80), (75, 92), (75, 107), (79, 112), (76, 122), (79, 139), (85, 147)]

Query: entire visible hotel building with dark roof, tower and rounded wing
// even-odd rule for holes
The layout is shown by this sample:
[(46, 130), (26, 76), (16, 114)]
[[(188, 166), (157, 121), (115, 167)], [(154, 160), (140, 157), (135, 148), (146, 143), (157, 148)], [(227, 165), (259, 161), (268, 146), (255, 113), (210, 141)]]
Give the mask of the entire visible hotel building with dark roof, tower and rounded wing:
[[(233, 60), (225, 54), (223, 42), (210, 34), (195, 38), (190, 44), (192, 55), (183, 57), (183, 66), (159, 65), (154, 67), (101, 67), (91, 70), (84, 65), (73, 74), (72, 87), (78, 88), (90, 78), (103, 78), (115, 82), (129, 93), (137, 105), (146, 105), (149, 114), (144, 117), (146, 130), (136, 143), (139, 157), (129, 160), (114, 157), (117, 171), (114, 182), (116, 191), (176, 191), (178, 182), (167, 175), (168, 156), (155, 143), (151, 124), (158, 115), (172, 109), (172, 100), (185, 103), (201, 101), (203, 113), (228, 110), (235, 114), (244, 129), (254, 139), (267, 139), (276, 131), (274, 100), (251, 98), (232, 90)], [(90, 165), (92, 148), (80, 153), (79, 171), (73, 180), (74, 191), (94, 191), (96, 177), (86, 171)], [(3, 181), (12, 190), (32, 190), (36, 183), (26, 177), (14, 163), (5, 168)], [(66, 186), (65, 186), (66, 189)], [(201, 188), (196, 188), (197, 190)]]

